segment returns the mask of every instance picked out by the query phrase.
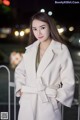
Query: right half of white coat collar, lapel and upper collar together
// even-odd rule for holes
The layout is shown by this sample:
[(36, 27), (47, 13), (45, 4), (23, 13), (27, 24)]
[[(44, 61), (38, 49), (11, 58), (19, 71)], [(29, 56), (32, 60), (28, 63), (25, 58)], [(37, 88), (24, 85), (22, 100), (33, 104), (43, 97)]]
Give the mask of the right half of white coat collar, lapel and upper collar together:
[(42, 60), (38, 66), (37, 76), (41, 76), (44, 70), (48, 67), (50, 62), (53, 60), (54, 56), (60, 52), (60, 43), (52, 40), (49, 47), (45, 51)]

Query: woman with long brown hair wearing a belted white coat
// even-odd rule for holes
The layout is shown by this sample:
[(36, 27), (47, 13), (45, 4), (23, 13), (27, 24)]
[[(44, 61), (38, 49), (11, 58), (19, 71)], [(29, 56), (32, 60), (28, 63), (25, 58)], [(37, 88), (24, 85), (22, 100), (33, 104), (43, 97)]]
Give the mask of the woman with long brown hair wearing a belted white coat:
[(30, 41), (15, 70), (18, 120), (61, 120), (61, 104), (71, 107), (74, 95), (70, 53), (46, 13), (32, 17)]

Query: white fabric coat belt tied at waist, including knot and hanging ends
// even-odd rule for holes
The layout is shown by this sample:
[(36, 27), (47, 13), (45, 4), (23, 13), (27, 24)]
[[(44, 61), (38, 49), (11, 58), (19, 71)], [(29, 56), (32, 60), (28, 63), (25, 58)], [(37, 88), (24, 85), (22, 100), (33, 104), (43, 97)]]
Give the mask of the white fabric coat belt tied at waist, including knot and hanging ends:
[(54, 106), (54, 109), (58, 108), (56, 101), (57, 89), (46, 87), (39, 90), (34, 87), (22, 86), (21, 92), (25, 92), (28, 94), (37, 94), (40, 96), (42, 103), (51, 102)]

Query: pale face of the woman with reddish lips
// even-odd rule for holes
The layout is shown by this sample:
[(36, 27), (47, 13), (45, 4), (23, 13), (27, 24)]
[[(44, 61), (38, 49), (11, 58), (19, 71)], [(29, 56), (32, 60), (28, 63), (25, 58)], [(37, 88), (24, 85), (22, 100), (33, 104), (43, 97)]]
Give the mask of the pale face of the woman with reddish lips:
[(36, 39), (38, 39), (40, 42), (50, 39), (50, 29), (46, 22), (37, 19), (33, 20), (32, 31)]

